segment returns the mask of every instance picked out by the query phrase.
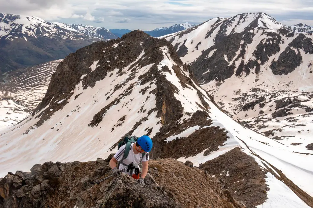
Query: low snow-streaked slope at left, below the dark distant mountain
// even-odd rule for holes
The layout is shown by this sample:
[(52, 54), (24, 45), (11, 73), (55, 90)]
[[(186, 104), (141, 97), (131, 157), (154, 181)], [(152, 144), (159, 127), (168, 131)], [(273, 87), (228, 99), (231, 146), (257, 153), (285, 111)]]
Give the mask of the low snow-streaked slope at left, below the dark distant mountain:
[(60, 62), (51, 61), (0, 75), (0, 129), (20, 122), (36, 109)]

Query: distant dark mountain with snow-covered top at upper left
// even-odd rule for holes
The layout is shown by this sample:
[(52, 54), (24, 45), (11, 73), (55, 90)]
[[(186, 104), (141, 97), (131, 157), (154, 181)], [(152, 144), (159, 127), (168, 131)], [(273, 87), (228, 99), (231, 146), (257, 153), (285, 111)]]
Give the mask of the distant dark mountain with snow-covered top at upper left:
[(62, 59), (99, 40), (37, 17), (0, 13), (0, 73)]

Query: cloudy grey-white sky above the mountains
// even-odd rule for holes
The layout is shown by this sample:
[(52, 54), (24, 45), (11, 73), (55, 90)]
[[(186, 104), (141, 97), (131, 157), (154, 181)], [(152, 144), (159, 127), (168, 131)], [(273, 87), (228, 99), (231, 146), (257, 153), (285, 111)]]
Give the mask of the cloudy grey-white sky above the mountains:
[(288, 26), (313, 26), (313, 0), (0, 0), (0, 12), (107, 29), (152, 30), (176, 23), (265, 12)]

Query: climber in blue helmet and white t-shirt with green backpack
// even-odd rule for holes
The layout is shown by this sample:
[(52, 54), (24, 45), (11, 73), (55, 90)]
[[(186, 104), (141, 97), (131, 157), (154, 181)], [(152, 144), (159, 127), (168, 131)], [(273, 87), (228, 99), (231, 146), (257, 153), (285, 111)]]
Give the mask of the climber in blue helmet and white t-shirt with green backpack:
[[(136, 136), (131, 138), (125, 137), (124, 141), (121, 142), (126, 144), (121, 146), (110, 160), (110, 167), (113, 170), (114, 177), (120, 175), (119, 170), (127, 168), (127, 172), (123, 173), (131, 175), (138, 180), (139, 184), (145, 185), (144, 179), (148, 172), (148, 152), (150, 152), (152, 148), (151, 138), (146, 135), (141, 136), (138, 139)], [(118, 167), (116, 167), (116, 162), (119, 162)], [(140, 162), (142, 162), (141, 176), (139, 175)], [(135, 164), (133, 167), (133, 169), (135, 169), (135, 174), (132, 174), (133, 169), (130, 169), (130, 166), (132, 165), (131, 163)]]

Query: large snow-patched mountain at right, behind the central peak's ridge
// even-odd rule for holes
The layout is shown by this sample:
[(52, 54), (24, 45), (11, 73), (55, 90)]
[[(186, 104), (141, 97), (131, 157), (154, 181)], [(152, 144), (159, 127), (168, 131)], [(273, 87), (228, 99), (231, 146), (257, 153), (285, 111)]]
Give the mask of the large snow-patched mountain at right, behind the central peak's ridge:
[(312, 36), (264, 13), (246, 13), (167, 40), (235, 120), (294, 152), (312, 154)]

